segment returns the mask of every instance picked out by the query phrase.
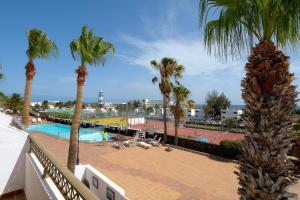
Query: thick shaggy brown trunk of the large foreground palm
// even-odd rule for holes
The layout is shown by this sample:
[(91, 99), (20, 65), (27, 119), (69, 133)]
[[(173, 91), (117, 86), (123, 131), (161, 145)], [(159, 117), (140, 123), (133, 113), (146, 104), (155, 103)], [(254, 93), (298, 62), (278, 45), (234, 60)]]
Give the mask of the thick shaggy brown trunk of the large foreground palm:
[(252, 48), (242, 80), (245, 102), (245, 140), (240, 161), (240, 199), (288, 199), (286, 191), (296, 181), (287, 157), (293, 139), (292, 112), (296, 87), (288, 57), (270, 41)]

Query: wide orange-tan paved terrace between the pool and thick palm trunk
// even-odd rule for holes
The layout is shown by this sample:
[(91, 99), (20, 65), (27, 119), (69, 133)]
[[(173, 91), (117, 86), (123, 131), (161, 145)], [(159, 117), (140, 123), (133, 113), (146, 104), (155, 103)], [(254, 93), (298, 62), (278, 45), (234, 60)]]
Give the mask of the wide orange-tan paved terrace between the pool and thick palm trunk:
[[(66, 164), (68, 140), (33, 133)], [(80, 162), (90, 164), (125, 189), (131, 200), (238, 199), (237, 165), (163, 147), (117, 150), (109, 143), (80, 143)]]

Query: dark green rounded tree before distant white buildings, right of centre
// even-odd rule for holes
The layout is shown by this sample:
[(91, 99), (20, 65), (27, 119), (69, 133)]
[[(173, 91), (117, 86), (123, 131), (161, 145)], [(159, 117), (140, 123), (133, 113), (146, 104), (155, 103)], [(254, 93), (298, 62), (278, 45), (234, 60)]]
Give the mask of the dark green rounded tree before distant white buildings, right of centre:
[(219, 118), (221, 110), (230, 106), (230, 100), (223, 92), (219, 93), (217, 90), (209, 92), (205, 99), (204, 113), (206, 116), (212, 118)]

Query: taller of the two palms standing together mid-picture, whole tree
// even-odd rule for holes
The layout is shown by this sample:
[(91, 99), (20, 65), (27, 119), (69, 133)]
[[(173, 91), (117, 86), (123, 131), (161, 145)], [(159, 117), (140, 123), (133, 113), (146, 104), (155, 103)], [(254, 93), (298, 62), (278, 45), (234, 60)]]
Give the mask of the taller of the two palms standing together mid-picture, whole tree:
[[(164, 121), (164, 143), (167, 143), (167, 106), (172, 92), (172, 84), (170, 78), (181, 78), (184, 67), (177, 65), (173, 58), (163, 58), (158, 63), (155, 60), (151, 61), (152, 67), (159, 72), (160, 82), (158, 83), (161, 94), (163, 95), (163, 121)], [(158, 77), (153, 77), (152, 83), (158, 82)]]

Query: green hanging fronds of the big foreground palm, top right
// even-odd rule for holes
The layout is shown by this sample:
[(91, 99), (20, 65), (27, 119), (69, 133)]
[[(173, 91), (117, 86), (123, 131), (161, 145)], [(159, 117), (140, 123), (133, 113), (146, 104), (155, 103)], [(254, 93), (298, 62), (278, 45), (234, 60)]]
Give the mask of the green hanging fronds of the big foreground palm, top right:
[(249, 51), (257, 40), (294, 46), (300, 33), (300, 1), (201, 0), (199, 22), (209, 53), (222, 58)]

